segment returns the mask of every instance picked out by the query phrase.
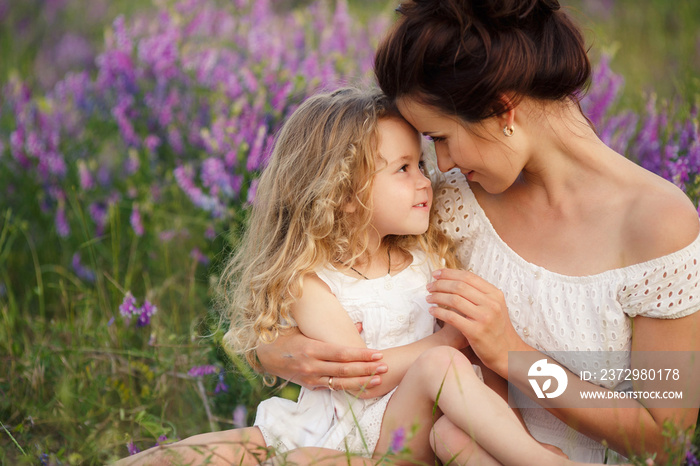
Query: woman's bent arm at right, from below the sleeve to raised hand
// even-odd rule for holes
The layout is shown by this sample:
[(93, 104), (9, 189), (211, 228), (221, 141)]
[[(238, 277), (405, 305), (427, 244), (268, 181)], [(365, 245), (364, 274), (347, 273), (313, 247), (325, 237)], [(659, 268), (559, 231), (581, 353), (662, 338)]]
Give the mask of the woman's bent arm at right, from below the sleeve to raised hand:
[[(502, 293), (470, 272), (440, 272), (441, 279), (430, 285), (433, 293), (429, 301), (442, 306), (433, 308), (433, 315), (462, 331), (471, 348), (488, 367), (508, 378), (523, 392), (532, 391), (527, 371), (508, 370), (508, 353), (530, 352), (527, 361), (533, 363), (546, 356), (528, 346), (517, 335), (508, 318)], [(700, 313), (676, 320), (636, 317), (632, 341), (634, 351), (700, 351)], [(524, 366), (529, 367), (523, 362)], [(632, 359), (632, 369), (645, 369), (640, 364), (643, 363)], [(691, 390), (686, 396), (697, 396), (697, 387), (700, 386), (700, 370), (697, 366), (693, 369), (685, 373), (688, 386), (694, 387), (695, 393)], [(669, 441), (663, 435), (664, 423), (672, 421), (679, 430), (683, 430), (692, 427), (697, 419), (697, 400), (692, 408), (646, 408), (631, 399), (619, 400), (615, 408), (573, 408), (571, 403), (567, 403), (567, 400), (571, 401), (567, 395), (578, 394), (579, 391), (608, 390), (567, 373), (570, 385), (566, 394), (547, 399), (547, 409), (576, 430), (598, 441), (605, 440), (611, 448), (625, 455), (650, 451), (657, 452), (657, 458), (662, 459), (664, 446)], [(693, 406), (693, 401), (690, 403)]]

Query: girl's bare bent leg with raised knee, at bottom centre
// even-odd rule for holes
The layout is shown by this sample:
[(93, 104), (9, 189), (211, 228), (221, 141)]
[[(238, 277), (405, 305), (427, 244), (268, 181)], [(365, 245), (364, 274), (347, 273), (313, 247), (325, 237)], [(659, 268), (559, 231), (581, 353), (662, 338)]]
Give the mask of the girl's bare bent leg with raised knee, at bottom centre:
[(410, 367), (384, 414), (376, 452), (389, 448), (396, 429), (410, 432), (417, 425), (408, 446), (413, 457), (431, 463), (428, 439), (437, 420), (432, 415), (436, 403), (454, 425), (500, 463), (571, 464), (537, 443), (503, 399), (476, 376), (469, 360), (450, 347), (428, 350)]

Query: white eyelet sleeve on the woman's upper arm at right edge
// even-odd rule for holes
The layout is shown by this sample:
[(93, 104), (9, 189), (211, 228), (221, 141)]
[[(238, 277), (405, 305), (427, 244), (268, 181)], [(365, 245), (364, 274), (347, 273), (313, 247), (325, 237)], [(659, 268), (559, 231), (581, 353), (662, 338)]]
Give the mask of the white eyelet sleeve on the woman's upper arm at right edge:
[(700, 310), (700, 236), (680, 251), (628, 269), (618, 296), (630, 317), (678, 319)]

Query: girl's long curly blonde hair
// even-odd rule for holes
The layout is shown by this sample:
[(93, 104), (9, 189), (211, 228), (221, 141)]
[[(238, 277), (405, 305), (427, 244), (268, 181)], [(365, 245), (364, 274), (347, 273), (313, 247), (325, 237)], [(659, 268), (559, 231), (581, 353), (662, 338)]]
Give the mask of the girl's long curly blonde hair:
[[(257, 345), (294, 325), (290, 305), (304, 276), (341, 258), (352, 266), (367, 251), (382, 118), (402, 117), (379, 91), (343, 88), (306, 100), (278, 134), (248, 227), (219, 282), (230, 319), (224, 343), (255, 370), (262, 369)], [(348, 212), (349, 203), (358, 208)], [(458, 267), (434, 218), (423, 235), (384, 241), (406, 252), (420, 247)]]

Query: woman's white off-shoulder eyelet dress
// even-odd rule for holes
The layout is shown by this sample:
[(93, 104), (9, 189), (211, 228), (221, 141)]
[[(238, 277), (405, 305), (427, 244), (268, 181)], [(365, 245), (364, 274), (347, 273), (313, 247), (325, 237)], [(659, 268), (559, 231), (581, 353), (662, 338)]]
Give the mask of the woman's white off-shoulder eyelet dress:
[[(447, 173), (446, 182), (436, 193), (439, 223), (457, 242), (464, 267), (503, 292), (513, 326), (528, 345), (545, 354), (572, 351), (559, 362), (575, 374), (586, 369), (576, 351), (611, 351), (616, 360), (607, 361), (609, 367), (629, 368), (632, 317), (675, 319), (700, 309), (700, 237), (641, 264), (591, 276), (561, 275), (527, 262), (498, 236), (462, 173)], [(603, 445), (525, 395), (519, 398), (517, 406), (531, 406), (521, 412), (537, 440), (556, 445), (572, 460), (603, 461)]]

